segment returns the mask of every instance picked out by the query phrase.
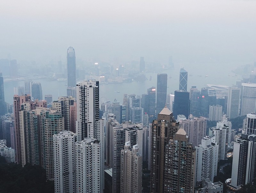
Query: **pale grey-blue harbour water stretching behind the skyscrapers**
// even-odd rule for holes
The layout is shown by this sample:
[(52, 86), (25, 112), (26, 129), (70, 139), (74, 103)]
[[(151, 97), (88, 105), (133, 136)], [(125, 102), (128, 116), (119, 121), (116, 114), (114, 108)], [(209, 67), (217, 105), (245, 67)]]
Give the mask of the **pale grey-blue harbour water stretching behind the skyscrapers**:
[[(218, 66), (220, 66), (220, 64), (218, 64)], [(239, 75), (235, 76), (235, 74), (231, 72), (232, 69), (230, 66), (225, 64), (223, 64), (221, 69), (215, 68), (215, 65), (208, 65), (206, 67), (204, 64), (196, 65), (196, 67), (195, 65), (184, 65), (184, 69), (188, 71), (188, 91), (191, 86), (196, 86), (198, 89), (201, 89), (205, 87), (206, 84), (232, 86), (236, 85), (237, 79), (241, 78)], [(157, 73), (167, 73), (167, 93), (174, 93), (174, 90), (179, 89), (179, 72), (180, 68), (163, 69), (161, 72), (146, 73), (148, 80), (144, 82), (132, 81), (116, 84), (100, 84), (100, 101), (110, 100), (112, 102), (116, 98), (117, 101), (122, 103), (123, 94), (141, 95), (147, 93), (148, 88), (152, 86), (156, 87)], [(206, 75), (207, 77), (205, 77)], [(149, 80), (150, 76), (152, 76), (151, 81)], [(53, 100), (56, 100), (58, 96), (67, 95), (67, 81), (47, 81), (47, 79), (33, 79), (32, 81), (41, 82), (43, 98), (46, 94), (52, 95)], [(4, 95), (7, 103), (13, 103), (13, 88), (18, 86), (24, 86), (24, 81), (4, 82)]]

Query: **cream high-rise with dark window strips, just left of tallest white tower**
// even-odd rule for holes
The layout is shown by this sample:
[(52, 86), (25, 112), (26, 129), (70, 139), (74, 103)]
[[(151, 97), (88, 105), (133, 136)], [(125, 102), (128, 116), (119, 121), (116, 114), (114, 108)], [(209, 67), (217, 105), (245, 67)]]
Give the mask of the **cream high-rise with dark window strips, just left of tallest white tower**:
[[(70, 122), (73, 123), (74, 127), (74, 120), (71, 120), (74, 119), (74, 117), (71, 116), (70, 111), (72, 111), (72, 109), (75, 110), (75, 101), (75, 98), (72, 96), (60, 96), (58, 100), (52, 102), (52, 108), (57, 109), (59, 112), (61, 112), (61, 116), (64, 117), (64, 127), (66, 131), (71, 131)], [(76, 112), (73, 112), (73, 115), (76, 115), (75, 113)]]

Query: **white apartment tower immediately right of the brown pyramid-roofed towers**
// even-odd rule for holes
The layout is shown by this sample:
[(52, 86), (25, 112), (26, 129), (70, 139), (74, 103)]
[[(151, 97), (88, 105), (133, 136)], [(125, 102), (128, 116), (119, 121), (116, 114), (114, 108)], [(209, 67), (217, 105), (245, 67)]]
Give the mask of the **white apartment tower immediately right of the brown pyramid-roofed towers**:
[(196, 146), (196, 182), (209, 178), (213, 181), (217, 175), (219, 145), (215, 136), (206, 136)]

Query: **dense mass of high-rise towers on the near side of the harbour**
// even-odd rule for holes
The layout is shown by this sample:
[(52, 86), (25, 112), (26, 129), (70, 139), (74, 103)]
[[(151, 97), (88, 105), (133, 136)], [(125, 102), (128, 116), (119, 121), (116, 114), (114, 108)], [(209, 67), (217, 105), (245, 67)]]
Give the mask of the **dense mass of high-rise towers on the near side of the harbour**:
[[(116, 77), (122, 68), (114, 70)], [(144, 57), (139, 71), (145, 72)], [(226, 185), (236, 190), (254, 183), (255, 82), (187, 91), (188, 72), (181, 68), (174, 94), (167, 93), (167, 73), (158, 73), (157, 86), (146, 94), (124, 94), (122, 104), (111, 103), (100, 99), (100, 80), (76, 82), (72, 47), (67, 77), (67, 96), (56, 100), (52, 95), (43, 100), (39, 82), (15, 87), (10, 110), (0, 73), (1, 156), (43, 167), (56, 193), (141, 193), (143, 170), (150, 170), (152, 193), (220, 193), (223, 183), (213, 181), (230, 146), (232, 177)], [(242, 134), (235, 135), (230, 119), (239, 115), (246, 118)], [(216, 126), (208, 129), (207, 120)]]

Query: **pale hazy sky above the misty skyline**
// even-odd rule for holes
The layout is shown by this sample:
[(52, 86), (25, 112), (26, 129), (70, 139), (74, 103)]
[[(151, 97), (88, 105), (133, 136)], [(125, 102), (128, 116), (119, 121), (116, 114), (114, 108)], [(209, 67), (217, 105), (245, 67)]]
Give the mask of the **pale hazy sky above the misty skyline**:
[[(0, 6), (0, 58), (256, 61), (254, 0), (8, 0)], [(64, 61), (63, 61), (64, 62)]]

